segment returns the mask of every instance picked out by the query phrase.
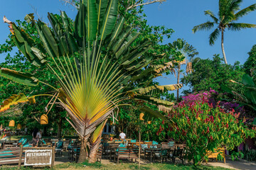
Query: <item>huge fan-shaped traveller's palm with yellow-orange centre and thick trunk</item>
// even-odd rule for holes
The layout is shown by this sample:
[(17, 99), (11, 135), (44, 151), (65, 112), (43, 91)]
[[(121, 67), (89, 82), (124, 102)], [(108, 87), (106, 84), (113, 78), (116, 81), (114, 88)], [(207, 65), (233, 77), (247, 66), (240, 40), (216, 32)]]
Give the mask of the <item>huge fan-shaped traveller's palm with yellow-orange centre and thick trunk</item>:
[[(182, 86), (151, 86), (145, 89), (154, 77), (170, 67), (170, 63), (152, 64), (166, 55), (147, 55), (151, 48), (150, 40), (139, 38), (139, 33), (118, 15), (117, 7), (118, 0), (81, 0), (74, 23), (63, 11), (60, 12), (61, 20), (48, 13), (51, 27), (28, 14), (25, 20), (36, 27), (40, 45), (4, 17), (18, 50), (31, 64), (53, 72), (58, 86), (40, 81), (40, 77), (33, 74), (6, 68), (0, 68), (0, 75), (27, 86), (43, 84), (53, 89), (52, 94), (26, 98), (29, 101), (36, 96), (51, 96), (49, 103), (65, 108), (70, 125), (82, 140), (79, 162), (87, 158), (89, 162), (96, 161), (102, 130), (120, 101), (138, 98), (156, 105), (171, 106), (173, 103), (169, 101), (152, 98), (150, 92), (159, 89), (169, 91)], [(131, 91), (137, 94), (134, 97), (127, 95)]]

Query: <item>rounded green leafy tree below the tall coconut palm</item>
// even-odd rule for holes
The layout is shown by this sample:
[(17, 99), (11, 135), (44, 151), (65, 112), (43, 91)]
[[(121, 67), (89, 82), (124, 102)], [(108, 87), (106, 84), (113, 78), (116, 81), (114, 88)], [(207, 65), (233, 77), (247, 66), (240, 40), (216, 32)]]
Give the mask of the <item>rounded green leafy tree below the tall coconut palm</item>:
[(193, 72), (183, 77), (181, 82), (191, 87), (190, 91), (184, 91), (185, 93), (208, 91), (210, 88), (221, 93), (221, 84), (234, 86), (229, 80), (241, 81), (243, 74), (239, 62), (234, 65), (223, 64), (219, 55), (214, 55), (213, 60), (194, 59)]

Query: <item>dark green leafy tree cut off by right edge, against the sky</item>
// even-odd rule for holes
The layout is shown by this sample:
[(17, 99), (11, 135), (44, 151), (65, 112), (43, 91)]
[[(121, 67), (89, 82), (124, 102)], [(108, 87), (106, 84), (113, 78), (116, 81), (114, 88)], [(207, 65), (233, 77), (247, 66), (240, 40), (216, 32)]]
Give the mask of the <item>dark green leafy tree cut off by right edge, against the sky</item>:
[(249, 57), (247, 58), (243, 67), (245, 68), (246, 74), (251, 74), (251, 70), (256, 69), (256, 45), (252, 46), (250, 52), (248, 52)]

